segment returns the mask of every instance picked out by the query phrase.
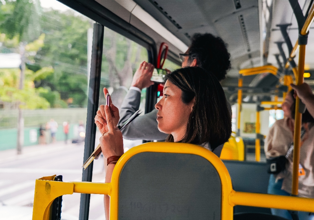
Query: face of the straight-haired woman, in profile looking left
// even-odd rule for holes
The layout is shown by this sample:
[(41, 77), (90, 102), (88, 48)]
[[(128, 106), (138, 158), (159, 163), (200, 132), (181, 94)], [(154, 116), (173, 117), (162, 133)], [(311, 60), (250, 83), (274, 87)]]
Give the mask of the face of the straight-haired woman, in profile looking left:
[(184, 137), (187, 130), (187, 122), (192, 112), (194, 99), (185, 104), (182, 102), (182, 91), (169, 80), (164, 87), (164, 96), (155, 105), (158, 110), (158, 129), (166, 134), (172, 134), (175, 141)]

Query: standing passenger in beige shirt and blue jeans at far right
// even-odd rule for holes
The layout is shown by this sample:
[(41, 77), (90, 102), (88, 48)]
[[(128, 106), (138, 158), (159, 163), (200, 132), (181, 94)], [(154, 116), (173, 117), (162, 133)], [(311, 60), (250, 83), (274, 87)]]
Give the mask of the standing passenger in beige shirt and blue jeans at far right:
[[(306, 83), (301, 86), (291, 85), (295, 90), (287, 94), (282, 110), (284, 111), (284, 119), (277, 120), (265, 140), (266, 157), (273, 158), (281, 155), (286, 155), (288, 148), (293, 142), (294, 133), (294, 116), (295, 116), (295, 92), (305, 103), (306, 112), (302, 114), (302, 127), (305, 129), (305, 134), (301, 139), (300, 147), (300, 166), (303, 169), (304, 175), (299, 175), (299, 196), (314, 198), (314, 96), (310, 86)], [(268, 183), (268, 193), (275, 195), (289, 196), (292, 185), (292, 154), (288, 157), (286, 169), (277, 175), (270, 175)], [(278, 215), (288, 219), (292, 219), (287, 210), (271, 209), (273, 215)], [(312, 219), (308, 212), (299, 212), (300, 219)]]

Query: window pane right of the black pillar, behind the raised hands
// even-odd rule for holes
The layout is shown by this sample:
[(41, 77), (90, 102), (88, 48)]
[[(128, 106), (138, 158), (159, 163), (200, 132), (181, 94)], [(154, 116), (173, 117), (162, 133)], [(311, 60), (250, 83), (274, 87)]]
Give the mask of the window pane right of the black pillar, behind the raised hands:
[[(103, 88), (111, 95), (113, 104), (120, 108), (132, 82), (133, 75), (142, 61), (148, 61), (147, 49), (105, 27), (99, 105), (106, 104)], [(142, 90), (140, 108), (145, 110), (146, 89)], [(97, 130), (95, 147), (101, 134)], [(124, 151), (142, 144), (142, 140), (123, 139)], [(103, 156), (94, 160), (93, 182), (105, 182)], [(89, 219), (105, 219), (103, 195), (90, 196)]]

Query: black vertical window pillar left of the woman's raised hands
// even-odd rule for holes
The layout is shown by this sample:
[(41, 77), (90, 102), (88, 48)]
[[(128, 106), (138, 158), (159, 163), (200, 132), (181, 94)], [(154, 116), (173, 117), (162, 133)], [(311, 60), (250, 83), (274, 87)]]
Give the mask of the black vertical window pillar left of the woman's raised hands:
[[(96, 124), (94, 122), (94, 118), (98, 110), (99, 102), (103, 42), (104, 42), (104, 26), (95, 23), (93, 31), (92, 57), (90, 65), (87, 118), (86, 118), (86, 136), (83, 163), (89, 158), (89, 156), (93, 153), (95, 149)], [(86, 168), (86, 170), (83, 169), (82, 181), (91, 182), (92, 175), (93, 175), (93, 162)], [(88, 220), (89, 200), (90, 194), (83, 193), (81, 194), (78, 218), (79, 220)]]

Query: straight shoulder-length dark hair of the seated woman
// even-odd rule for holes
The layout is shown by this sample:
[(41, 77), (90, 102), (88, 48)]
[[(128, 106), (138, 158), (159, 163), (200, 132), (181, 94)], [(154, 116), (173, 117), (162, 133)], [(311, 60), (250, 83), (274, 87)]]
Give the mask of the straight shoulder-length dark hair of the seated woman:
[[(187, 131), (180, 142), (209, 143), (212, 150), (227, 142), (231, 135), (231, 115), (217, 78), (201, 67), (184, 67), (165, 76), (167, 80), (181, 89), (183, 103), (195, 97)], [(166, 141), (173, 141), (173, 136), (170, 134)]]

